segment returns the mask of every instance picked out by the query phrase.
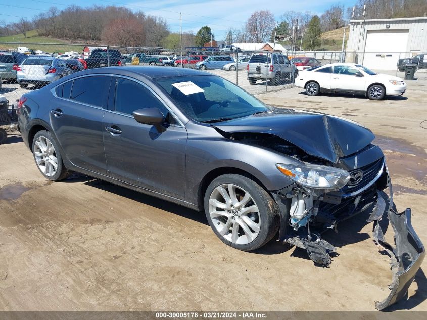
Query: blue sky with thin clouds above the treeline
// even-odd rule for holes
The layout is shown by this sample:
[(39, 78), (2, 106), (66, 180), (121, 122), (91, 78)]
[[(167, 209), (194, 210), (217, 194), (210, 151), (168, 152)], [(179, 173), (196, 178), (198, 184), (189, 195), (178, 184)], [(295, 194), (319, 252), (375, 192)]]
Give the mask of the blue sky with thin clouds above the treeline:
[[(49, 7), (65, 9), (70, 4), (81, 7), (97, 5), (125, 6), (133, 11), (144, 11), (149, 15), (162, 16), (171, 32), (179, 32), (182, 13), (182, 31), (196, 33), (202, 26), (211, 27), (215, 38), (224, 39), (230, 27), (240, 29), (256, 10), (270, 10), (275, 19), (288, 10), (311, 11), (321, 14), (333, 4), (352, 6), (355, 0), (283, 0), (263, 2), (262, 0), (0, 0), (0, 21), (14, 22), (20, 17), (32, 18)], [(265, 4), (274, 4), (274, 8)]]

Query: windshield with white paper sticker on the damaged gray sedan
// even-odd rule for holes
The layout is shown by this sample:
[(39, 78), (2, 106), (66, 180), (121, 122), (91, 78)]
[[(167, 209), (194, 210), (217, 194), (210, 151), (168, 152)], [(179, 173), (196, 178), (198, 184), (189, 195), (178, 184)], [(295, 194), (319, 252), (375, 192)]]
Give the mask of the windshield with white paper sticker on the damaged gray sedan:
[(270, 110), (240, 87), (218, 76), (160, 78), (156, 82), (182, 113), (198, 122), (220, 122)]

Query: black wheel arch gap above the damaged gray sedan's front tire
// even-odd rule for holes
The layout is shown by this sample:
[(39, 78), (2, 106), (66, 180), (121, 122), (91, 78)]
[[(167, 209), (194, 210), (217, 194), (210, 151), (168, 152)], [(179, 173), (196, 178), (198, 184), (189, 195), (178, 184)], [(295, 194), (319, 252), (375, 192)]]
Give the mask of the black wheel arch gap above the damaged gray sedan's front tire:
[(214, 179), (216, 179), (217, 177), (224, 175), (224, 174), (239, 174), (239, 175), (245, 176), (245, 177), (255, 181), (274, 200), (271, 192), (267, 189), (267, 187), (263, 184), (263, 182), (260, 179), (258, 179), (255, 175), (249, 173), (248, 171), (245, 171), (243, 169), (236, 168), (236, 167), (229, 167), (229, 166), (228, 167), (219, 167), (219, 168), (215, 168), (215, 169), (209, 171), (207, 174), (205, 174), (205, 176), (203, 177), (203, 179), (199, 185), (199, 190), (198, 190), (198, 195), (197, 195), (197, 205), (198, 205), (200, 210), (203, 210), (203, 207), (204, 207), (203, 201), (204, 201), (206, 189), (208, 189), (208, 186), (210, 185), (210, 183)]

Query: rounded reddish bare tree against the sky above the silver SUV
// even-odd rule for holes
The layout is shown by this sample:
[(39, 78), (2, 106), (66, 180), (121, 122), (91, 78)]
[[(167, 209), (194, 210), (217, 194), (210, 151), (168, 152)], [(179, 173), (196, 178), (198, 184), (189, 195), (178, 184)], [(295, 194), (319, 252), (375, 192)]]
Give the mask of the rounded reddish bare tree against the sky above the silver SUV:
[(274, 15), (268, 10), (257, 10), (246, 22), (249, 40), (253, 43), (265, 42), (275, 26)]

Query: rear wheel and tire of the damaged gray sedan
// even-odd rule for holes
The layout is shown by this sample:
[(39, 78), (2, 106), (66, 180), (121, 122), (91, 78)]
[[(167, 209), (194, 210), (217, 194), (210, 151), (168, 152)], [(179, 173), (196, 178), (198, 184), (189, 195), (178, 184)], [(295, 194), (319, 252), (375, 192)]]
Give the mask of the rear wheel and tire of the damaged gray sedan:
[[(64, 166), (59, 146), (48, 131), (42, 130), (35, 134), (32, 150), (36, 166), (46, 179), (60, 181), (72, 174), (72, 172)], [(57, 159), (56, 169), (54, 165), (55, 157)], [(47, 165), (46, 159), (50, 160)]]

